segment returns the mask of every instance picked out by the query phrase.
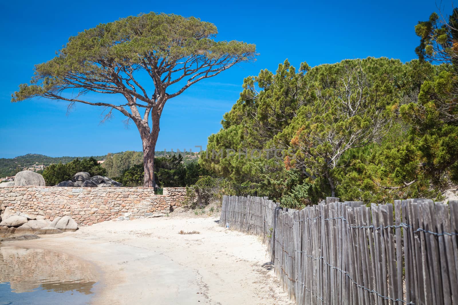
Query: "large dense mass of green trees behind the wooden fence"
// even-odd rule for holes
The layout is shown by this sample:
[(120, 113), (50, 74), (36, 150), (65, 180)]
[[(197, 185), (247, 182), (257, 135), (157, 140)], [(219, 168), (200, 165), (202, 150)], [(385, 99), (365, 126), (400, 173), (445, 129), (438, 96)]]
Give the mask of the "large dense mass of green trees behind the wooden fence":
[[(331, 195), (365, 203), (440, 198), (447, 177), (458, 177), (457, 133), (447, 123), (456, 112), (431, 100), (450, 104), (450, 71), (369, 57), (304, 63), (296, 72), (285, 61), (276, 74), (262, 70), (245, 79), (223, 128), (208, 138), (207, 155), (223, 154), (199, 162), (236, 185), (236, 193), (268, 194), (290, 208)], [(228, 149), (294, 155), (256, 159)]]

